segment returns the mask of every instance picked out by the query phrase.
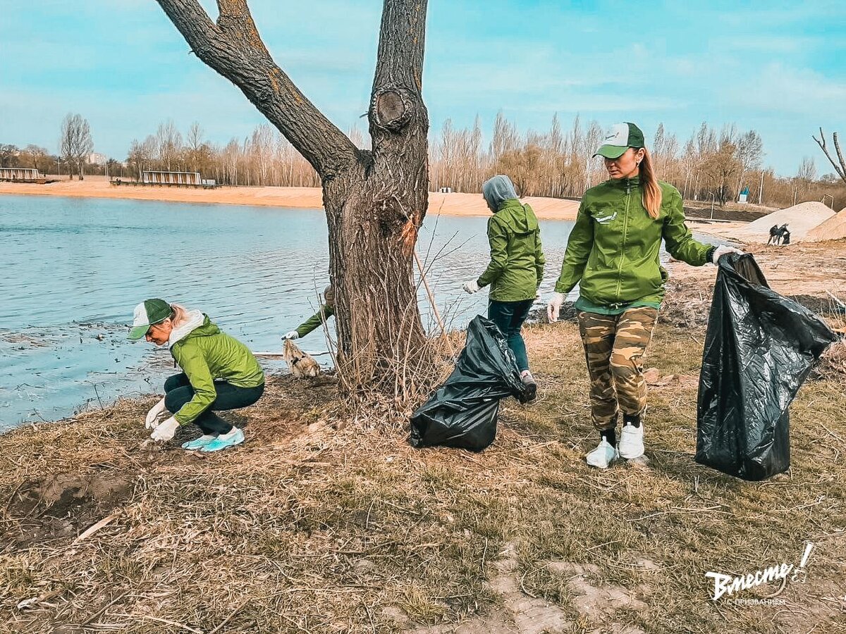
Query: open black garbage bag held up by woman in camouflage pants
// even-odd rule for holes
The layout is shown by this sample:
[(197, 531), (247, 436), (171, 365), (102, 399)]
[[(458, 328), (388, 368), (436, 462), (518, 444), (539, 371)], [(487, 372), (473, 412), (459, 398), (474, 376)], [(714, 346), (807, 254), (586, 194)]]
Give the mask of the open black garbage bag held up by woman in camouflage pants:
[(837, 336), (772, 291), (750, 254), (719, 260), (702, 356), (696, 462), (763, 480), (790, 466), (788, 407)]

